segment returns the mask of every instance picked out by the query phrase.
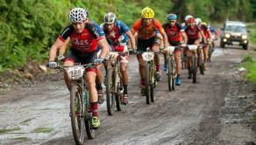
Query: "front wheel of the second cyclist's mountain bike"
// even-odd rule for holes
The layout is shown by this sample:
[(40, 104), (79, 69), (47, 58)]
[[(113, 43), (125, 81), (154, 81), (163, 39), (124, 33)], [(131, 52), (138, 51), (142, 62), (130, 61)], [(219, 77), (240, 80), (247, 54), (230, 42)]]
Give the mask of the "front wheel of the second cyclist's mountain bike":
[(114, 114), (114, 108), (115, 108), (115, 93), (114, 93), (114, 87), (116, 82), (116, 74), (113, 73), (112, 67), (110, 67), (107, 71), (107, 80), (106, 80), (106, 93), (107, 93), (107, 110), (108, 114), (112, 115)]

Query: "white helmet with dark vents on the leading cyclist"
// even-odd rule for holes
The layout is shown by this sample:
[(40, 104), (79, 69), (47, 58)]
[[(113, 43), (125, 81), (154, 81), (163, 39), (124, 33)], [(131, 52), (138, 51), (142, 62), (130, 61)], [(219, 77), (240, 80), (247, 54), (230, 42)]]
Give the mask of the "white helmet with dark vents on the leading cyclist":
[(82, 22), (88, 17), (88, 11), (82, 8), (74, 8), (69, 12), (69, 19), (72, 23)]

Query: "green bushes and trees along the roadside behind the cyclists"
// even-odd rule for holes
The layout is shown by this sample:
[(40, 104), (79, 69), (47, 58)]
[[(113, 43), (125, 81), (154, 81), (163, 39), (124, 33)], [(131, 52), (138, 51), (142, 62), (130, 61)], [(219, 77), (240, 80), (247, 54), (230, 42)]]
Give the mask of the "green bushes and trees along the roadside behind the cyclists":
[(256, 16), (253, 0), (0, 0), (0, 72), (31, 60), (47, 61), (49, 47), (69, 24), (69, 10), (78, 6), (88, 9), (89, 18), (98, 24), (105, 12), (113, 11), (130, 27), (146, 6), (162, 23), (170, 12), (180, 19), (191, 14), (208, 22), (252, 21)]

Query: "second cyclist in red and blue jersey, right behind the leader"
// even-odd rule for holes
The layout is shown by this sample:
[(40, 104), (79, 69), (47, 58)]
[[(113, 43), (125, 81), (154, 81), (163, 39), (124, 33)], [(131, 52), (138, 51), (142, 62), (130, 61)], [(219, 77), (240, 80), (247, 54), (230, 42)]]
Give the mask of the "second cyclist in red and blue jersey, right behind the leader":
[[(105, 32), (107, 41), (113, 52), (123, 52), (124, 45), (121, 43), (125, 43), (127, 45), (128, 39), (125, 39), (127, 36), (130, 39), (132, 49), (135, 49), (135, 39), (130, 31), (130, 28), (124, 24), (122, 21), (117, 20), (117, 17), (114, 13), (108, 12), (104, 16), (104, 23), (101, 24), (103, 31)], [(119, 42), (121, 38), (121, 41)], [(124, 39), (122, 39), (124, 38)], [(128, 103), (127, 96), (127, 86), (128, 86), (128, 74), (127, 74), (127, 63), (128, 63), (128, 54), (125, 56), (119, 56), (120, 59), (120, 70), (122, 73), (122, 81), (124, 85), (124, 93), (123, 93), (123, 104), (126, 105)]]

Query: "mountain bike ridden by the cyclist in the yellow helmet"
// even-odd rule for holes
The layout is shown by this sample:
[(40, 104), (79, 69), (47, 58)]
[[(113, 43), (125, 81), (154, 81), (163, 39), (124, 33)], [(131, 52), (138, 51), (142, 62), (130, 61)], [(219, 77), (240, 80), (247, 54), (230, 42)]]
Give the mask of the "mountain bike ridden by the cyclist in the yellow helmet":
[[(145, 62), (145, 71), (146, 71), (146, 104), (154, 102), (154, 92), (153, 89), (157, 85), (156, 80), (156, 71), (154, 64), (154, 53), (151, 52), (150, 48), (146, 49), (146, 52), (135, 52), (142, 56), (142, 59)], [(158, 53), (158, 52), (157, 52)]]

